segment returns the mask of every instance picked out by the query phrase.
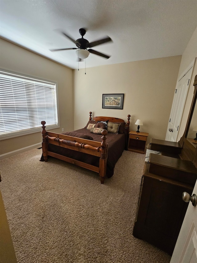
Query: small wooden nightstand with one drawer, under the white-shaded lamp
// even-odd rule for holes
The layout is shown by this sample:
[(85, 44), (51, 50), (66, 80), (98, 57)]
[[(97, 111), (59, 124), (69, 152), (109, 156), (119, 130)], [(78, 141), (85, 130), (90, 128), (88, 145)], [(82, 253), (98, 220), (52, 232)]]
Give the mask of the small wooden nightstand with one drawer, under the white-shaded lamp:
[(139, 153), (139, 154), (145, 154), (147, 137), (148, 137), (148, 133), (146, 132), (130, 131), (128, 151)]

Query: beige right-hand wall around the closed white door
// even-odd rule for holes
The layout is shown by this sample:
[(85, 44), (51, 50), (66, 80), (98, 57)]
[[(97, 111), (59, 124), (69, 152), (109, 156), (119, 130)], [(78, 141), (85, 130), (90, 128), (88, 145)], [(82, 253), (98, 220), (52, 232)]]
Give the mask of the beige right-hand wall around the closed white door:
[[(190, 65), (190, 63), (197, 57), (197, 28), (195, 29), (189, 43), (187, 44), (186, 49), (183, 52), (182, 59), (181, 59), (181, 64), (179, 68), (179, 76), (184, 72), (184, 70)], [(181, 136), (184, 133), (185, 126), (187, 124), (187, 118), (189, 115), (190, 111), (190, 106), (191, 106), (191, 101), (193, 99), (193, 93), (194, 93), (194, 78), (195, 75), (197, 74), (197, 63), (195, 63), (192, 76), (191, 76), (191, 82), (190, 82), (190, 87), (187, 95), (187, 100), (184, 108), (184, 113), (179, 129), (179, 134), (178, 134), (178, 140), (181, 138)], [(196, 119), (197, 123), (197, 119)]]

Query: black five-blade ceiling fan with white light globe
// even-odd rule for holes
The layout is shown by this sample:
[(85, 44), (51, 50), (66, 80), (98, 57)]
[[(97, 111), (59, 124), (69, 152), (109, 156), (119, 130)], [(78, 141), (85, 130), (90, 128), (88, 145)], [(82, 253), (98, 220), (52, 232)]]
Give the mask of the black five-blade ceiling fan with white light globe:
[(73, 43), (75, 43), (75, 45), (77, 47), (61, 48), (61, 49), (50, 49), (50, 51), (77, 49), (76, 53), (78, 55), (79, 61), (81, 61), (81, 59), (87, 58), (90, 53), (98, 55), (98, 56), (101, 56), (101, 57), (106, 58), (106, 59), (110, 58), (109, 55), (103, 54), (101, 52), (98, 52), (98, 51), (90, 48), (90, 47), (95, 47), (95, 46), (98, 46), (100, 44), (112, 41), (112, 39), (109, 36), (107, 36), (107, 37), (105, 37), (103, 39), (99, 39), (99, 40), (96, 40), (94, 42), (90, 42), (89, 43), (89, 41), (87, 39), (83, 38), (83, 36), (86, 34), (86, 30), (84, 28), (80, 28), (79, 29), (79, 33), (80, 33), (80, 35), (82, 37), (77, 39), (77, 40), (74, 40), (69, 35), (67, 35), (66, 33), (62, 32), (62, 34), (65, 35), (68, 39), (70, 39)]

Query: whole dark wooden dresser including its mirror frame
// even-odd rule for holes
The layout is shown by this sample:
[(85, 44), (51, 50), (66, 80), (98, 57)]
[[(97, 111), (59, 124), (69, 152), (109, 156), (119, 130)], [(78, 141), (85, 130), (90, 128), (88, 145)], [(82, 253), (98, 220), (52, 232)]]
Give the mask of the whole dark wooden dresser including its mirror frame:
[(194, 97), (183, 137), (179, 142), (151, 139), (151, 153), (145, 162), (133, 236), (146, 240), (172, 255), (188, 207), (182, 193), (192, 194), (197, 179), (197, 147), (187, 139), (197, 98)]

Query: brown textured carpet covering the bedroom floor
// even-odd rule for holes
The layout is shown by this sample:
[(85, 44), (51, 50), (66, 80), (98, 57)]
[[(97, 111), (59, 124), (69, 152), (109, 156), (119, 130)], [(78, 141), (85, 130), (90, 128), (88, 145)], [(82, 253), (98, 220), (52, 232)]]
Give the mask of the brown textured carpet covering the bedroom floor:
[(41, 149), (0, 160), (2, 193), (18, 263), (168, 263), (132, 235), (145, 155), (124, 151), (115, 173), (50, 158)]

